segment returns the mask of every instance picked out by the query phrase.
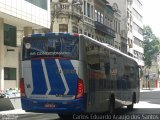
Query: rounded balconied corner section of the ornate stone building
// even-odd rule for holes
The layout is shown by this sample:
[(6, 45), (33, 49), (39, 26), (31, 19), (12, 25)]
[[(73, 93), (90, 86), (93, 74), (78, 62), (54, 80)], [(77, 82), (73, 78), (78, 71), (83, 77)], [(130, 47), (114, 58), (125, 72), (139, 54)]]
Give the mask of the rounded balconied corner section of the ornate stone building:
[(82, 33), (83, 14), (82, 1), (52, 0), (51, 29), (52, 32)]

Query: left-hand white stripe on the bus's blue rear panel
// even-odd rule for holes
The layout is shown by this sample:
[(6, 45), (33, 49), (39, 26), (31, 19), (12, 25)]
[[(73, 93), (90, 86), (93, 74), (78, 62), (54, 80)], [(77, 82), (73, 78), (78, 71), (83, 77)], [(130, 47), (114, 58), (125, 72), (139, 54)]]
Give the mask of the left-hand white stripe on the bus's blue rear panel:
[(48, 78), (46, 64), (44, 62), (44, 59), (42, 59), (41, 62), (42, 62), (42, 68), (43, 68), (43, 71), (44, 71), (44, 77), (45, 77), (47, 88), (48, 88), (48, 90), (46, 92), (46, 95), (48, 95), (49, 92), (51, 91), (51, 86), (50, 86), (50, 83), (49, 83), (49, 78)]

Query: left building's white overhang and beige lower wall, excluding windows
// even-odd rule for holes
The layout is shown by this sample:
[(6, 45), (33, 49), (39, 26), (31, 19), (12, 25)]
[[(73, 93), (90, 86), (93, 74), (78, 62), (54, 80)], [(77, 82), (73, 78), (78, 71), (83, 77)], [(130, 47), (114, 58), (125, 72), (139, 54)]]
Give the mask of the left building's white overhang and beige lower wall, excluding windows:
[[(50, 0), (47, 1), (48, 9), (46, 10), (26, 0), (0, 0), (0, 90), (19, 86), (19, 48), (4, 45), (3, 25), (9, 24), (22, 31), (25, 28), (49, 29)], [(7, 51), (7, 49), (11, 51)], [(4, 67), (16, 68), (16, 80), (4, 80)]]

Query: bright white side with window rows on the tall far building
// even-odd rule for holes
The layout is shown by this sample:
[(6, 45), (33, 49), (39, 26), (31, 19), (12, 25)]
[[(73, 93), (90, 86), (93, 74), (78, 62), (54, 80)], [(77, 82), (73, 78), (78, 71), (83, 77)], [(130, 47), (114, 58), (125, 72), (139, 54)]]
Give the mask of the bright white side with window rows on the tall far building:
[(142, 0), (133, 0), (132, 19), (133, 19), (133, 56), (139, 65), (144, 66), (143, 61), (143, 5)]

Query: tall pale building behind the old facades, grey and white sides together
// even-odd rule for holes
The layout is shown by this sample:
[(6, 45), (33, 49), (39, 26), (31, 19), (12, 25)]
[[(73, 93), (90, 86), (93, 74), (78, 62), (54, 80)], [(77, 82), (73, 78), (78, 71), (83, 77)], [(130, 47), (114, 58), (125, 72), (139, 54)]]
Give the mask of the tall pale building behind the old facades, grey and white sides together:
[(141, 0), (108, 1), (111, 4), (116, 3), (121, 11), (121, 31), (127, 35), (127, 54), (136, 58), (140, 66), (144, 66), (143, 5)]

